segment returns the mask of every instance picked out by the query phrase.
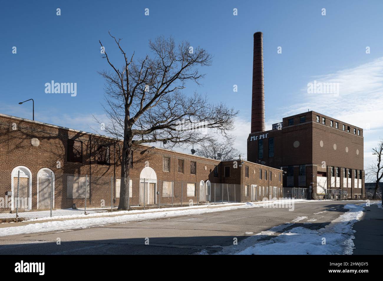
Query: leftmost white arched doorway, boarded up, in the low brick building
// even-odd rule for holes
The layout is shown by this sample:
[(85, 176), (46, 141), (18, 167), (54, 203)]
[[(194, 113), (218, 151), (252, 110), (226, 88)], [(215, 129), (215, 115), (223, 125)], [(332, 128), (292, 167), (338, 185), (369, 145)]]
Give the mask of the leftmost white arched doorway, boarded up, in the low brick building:
[(27, 167), (18, 166), (12, 170), (11, 192), (11, 210), (16, 210), (16, 206), (18, 210), (31, 210), (32, 173)]

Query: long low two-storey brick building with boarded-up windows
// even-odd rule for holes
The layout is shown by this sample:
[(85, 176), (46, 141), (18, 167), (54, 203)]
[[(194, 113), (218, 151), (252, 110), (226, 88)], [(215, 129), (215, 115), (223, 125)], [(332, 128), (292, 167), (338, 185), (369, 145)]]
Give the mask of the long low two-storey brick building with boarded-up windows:
[[(117, 206), (119, 144), (113, 138), (0, 114), (0, 212)], [(20, 174), (19, 174), (20, 171)], [(267, 176), (259, 177), (259, 171)], [(144, 188), (145, 186), (145, 188)], [(81, 188), (83, 187), (83, 188)], [(53, 192), (51, 193), (51, 190)], [(131, 206), (256, 201), (282, 197), (282, 170), (249, 161), (218, 161), (151, 146), (134, 146)], [(1, 205), (1, 202), (0, 202)]]

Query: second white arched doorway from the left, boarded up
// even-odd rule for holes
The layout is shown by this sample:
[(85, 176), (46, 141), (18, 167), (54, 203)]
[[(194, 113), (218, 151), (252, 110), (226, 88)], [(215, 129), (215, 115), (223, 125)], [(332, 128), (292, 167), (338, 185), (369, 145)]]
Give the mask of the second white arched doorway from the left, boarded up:
[(54, 208), (54, 172), (43, 168), (37, 173), (37, 208), (50, 209), (51, 201)]

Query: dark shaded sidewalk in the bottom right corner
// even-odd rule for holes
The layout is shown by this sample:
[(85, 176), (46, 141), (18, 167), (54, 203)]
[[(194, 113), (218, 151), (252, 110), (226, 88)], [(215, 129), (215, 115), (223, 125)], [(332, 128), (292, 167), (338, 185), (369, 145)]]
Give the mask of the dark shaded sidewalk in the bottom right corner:
[(356, 231), (353, 255), (383, 255), (383, 210), (373, 204), (365, 207), (363, 213), (352, 227)]

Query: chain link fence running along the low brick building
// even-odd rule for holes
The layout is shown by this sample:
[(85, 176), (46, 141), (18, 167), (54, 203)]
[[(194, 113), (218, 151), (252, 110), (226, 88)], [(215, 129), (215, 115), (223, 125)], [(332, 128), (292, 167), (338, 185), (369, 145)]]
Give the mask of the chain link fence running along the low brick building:
[[(280, 187), (219, 184), (203, 180), (92, 177), (88, 174), (54, 174), (49, 169), (43, 169), (37, 178), (33, 178), (27, 169), (18, 169), (11, 178), (11, 191), (5, 197), (5, 209), (0, 210), (0, 221), (85, 217), (87, 214), (108, 215), (127, 209), (215, 205), (282, 197)], [(120, 193), (126, 197), (120, 198)]]

